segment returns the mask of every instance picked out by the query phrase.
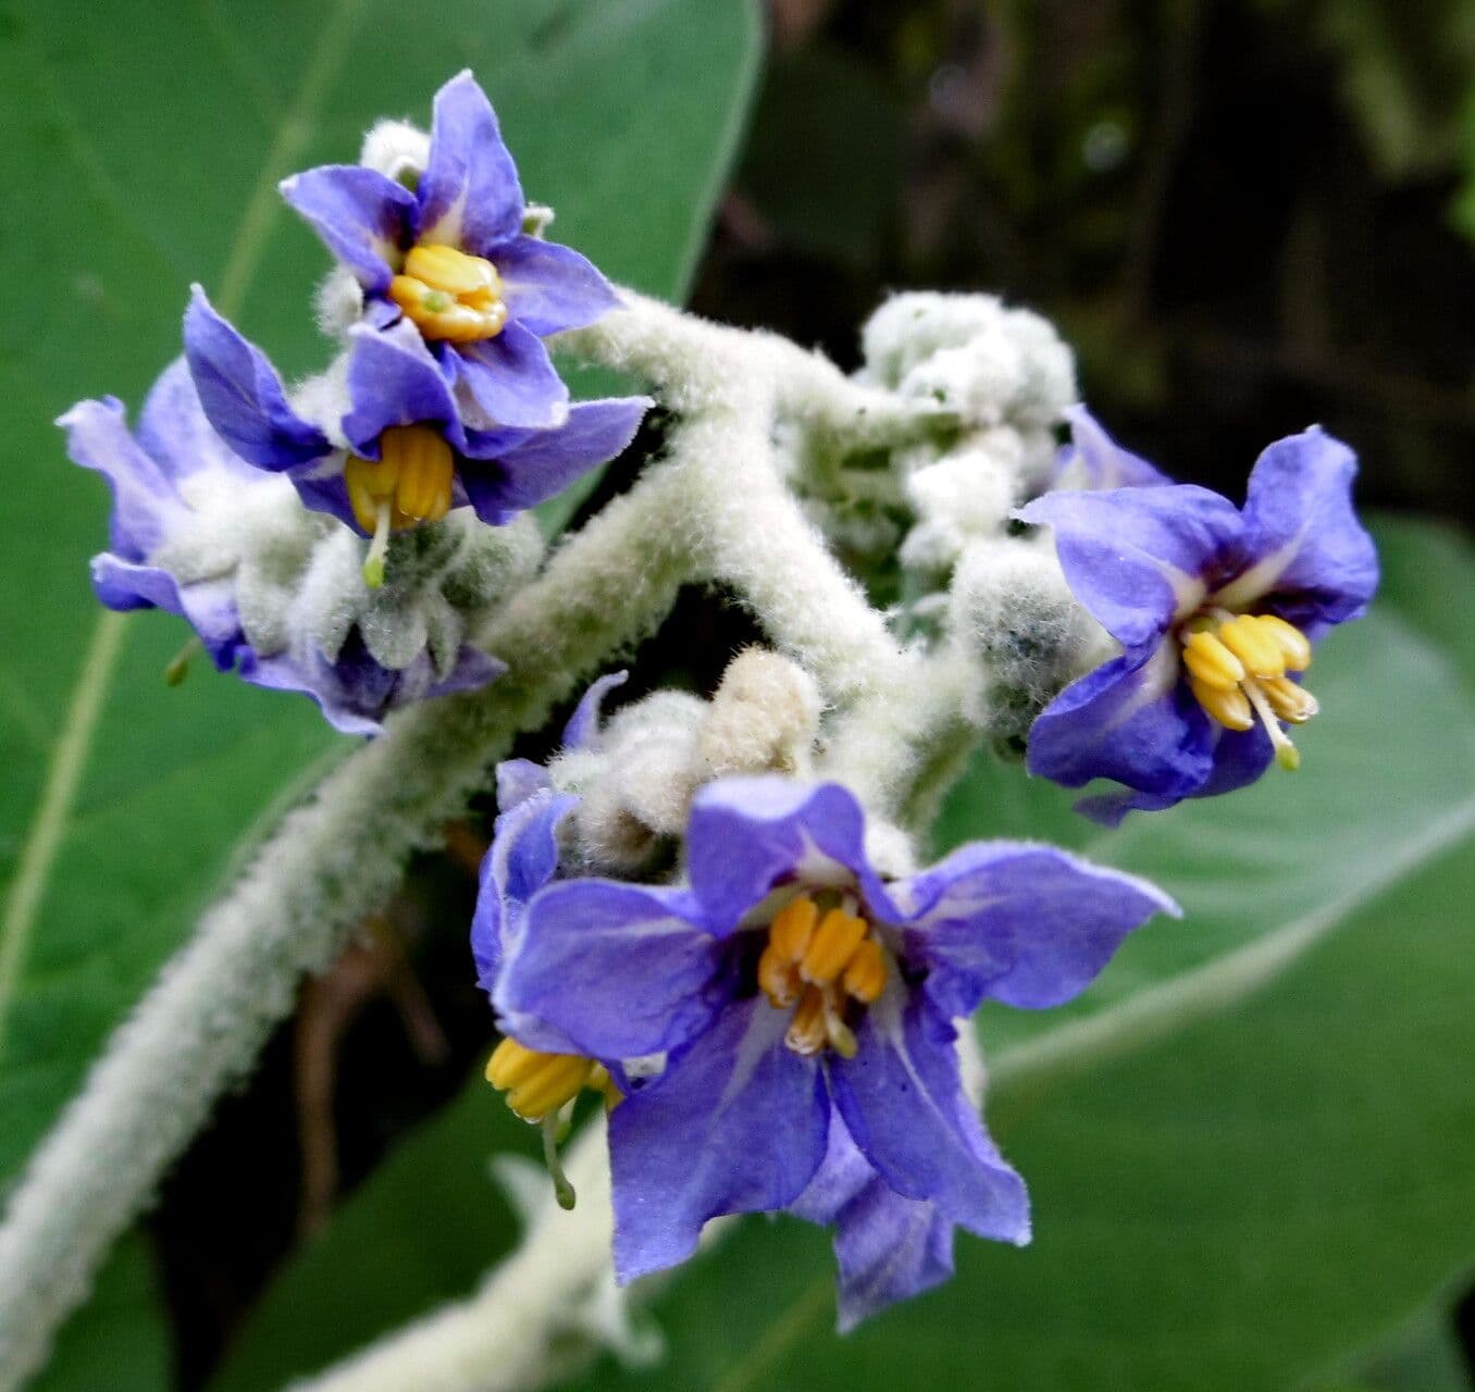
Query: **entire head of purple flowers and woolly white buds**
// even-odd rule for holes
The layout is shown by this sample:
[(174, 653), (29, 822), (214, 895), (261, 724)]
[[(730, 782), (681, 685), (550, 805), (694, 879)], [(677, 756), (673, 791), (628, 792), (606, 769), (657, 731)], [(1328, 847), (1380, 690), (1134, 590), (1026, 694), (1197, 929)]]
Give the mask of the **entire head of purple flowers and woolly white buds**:
[[(435, 97), (429, 136), (376, 127), (361, 164), (282, 192), (339, 262), (319, 295), (333, 361), (289, 389), (196, 288), (184, 355), (136, 432), (111, 398), (60, 425), (114, 490), (93, 562), (105, 605), (178, 613), (221, 669), (373, 734), (397, 706), (504, 671), (479, 640), (543, 559), (527, 510), (624, 450), (650, 403), (571, 403), (544, 339), (618, 299), (543, 237), (469, 74)], [(1030, 1237), (1024, 1183), (966, 1082), (971, 1016), (1069, 1001), (1128, 933), (1179, 913), (1047, 845), (975, 842), (917, 870), (917, 827), (881, 812), (922, 821), (960, 733), (1024, 748), (1031, 773), (1071, 787), (1117, 783), (1080, 804), (1103, 821), (1295, 768), (1313, 644), (1378, 582), (1356, 460), (1320, 429), (1270, 445), (1240, 509), (1069, 406), (1069, 351), (1027, 311), (901, 295), (864, 348), (850, 382), (805, 363), (827, 385), (789, 419), (770, 404), (754, 432), (789, 451), (767, 495), (795, 504), (783, 540), (757, 559), (761, 538), (712, 549), (743, 551), (749, 577), (795, 560), (780, 547), (798, 556), (770, 610), (822, 574), (817, 600), (758, 613), (786, 655), (748, 649), (709, 699), (658, 690), (608, 721), (624, 674), (596, 681), (549, 764), (499, 767), (472, 925), (503, 1032), (487, 1075), (541, 1125), (568, 1203), (559, 1131), (584, 1090), (611, 1109), (620, 1278), (686, 1259), (712, 1218), (786, 1211), (835, 1228), (842, 1327), (944, 1280), (959, 1227)], [(777, 379), (783, 361), (727, 366)], [(810, 389), (795, 377), (789, 392)], [(715, 463), (701, 487), (727, 487)], [(673, 445), (665, 478), (680, 467)], [(754, 476), (735, 467), (732, 487)], [(620, 506), (630, 566), (652, 526), (729, 526), (730, 509)], [(885, 615), (820, 532), (872, 597), (891, 584)], [(715, 571), (683, 578), (733, 578)], [(612, 565), (574, 575), (549, 628), (618, 602), (593, 593), (624, 578)], [(851, 637), (886, 669), (869, 684), (835, 677)]]

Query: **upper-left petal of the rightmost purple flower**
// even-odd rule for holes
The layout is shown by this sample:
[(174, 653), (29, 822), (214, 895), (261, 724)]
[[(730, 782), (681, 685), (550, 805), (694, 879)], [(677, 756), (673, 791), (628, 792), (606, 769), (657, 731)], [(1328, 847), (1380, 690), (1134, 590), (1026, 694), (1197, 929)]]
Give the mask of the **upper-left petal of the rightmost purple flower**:
[(1047, 493), (1015, 516), (1055, 529), (1071, 591), (1124, 647), (1198, 609), (1243, 531), (1233, 503), (1190, 484)]

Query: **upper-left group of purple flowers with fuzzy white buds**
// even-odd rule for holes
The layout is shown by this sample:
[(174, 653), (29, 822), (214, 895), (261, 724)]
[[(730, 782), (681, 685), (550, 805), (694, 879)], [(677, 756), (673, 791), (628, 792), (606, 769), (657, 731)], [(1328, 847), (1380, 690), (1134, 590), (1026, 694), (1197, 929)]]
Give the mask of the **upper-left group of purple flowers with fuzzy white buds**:
[(137, 439), (111, 398), (60, 420), (114, 487), (102, 602), (183, 615), (221, 669), (307, 692), (360, 734), (503, 671), (476, 630), (541, 549), (510, 523), (625, 448), (650, 404), (569, 403), (543, 338), (618, 301), (527, 230), (546, 218), (471, 75), (437, 96), (429, 140), (400, 130), (394, 177), (336, 165), (282, 186), (354, 277), (320, 376), (289, 392), (196, 286)]

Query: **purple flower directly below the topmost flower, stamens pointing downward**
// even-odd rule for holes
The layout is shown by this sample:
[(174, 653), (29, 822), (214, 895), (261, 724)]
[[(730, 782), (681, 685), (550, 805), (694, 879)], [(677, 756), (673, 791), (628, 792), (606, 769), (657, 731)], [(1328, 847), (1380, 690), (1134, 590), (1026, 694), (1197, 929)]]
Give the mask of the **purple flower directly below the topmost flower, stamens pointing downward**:
[[(367, 171), (363, 171), (367, 173)], [(558, 429), (473, 429), (409, 323), (355, 324), (336, 372), (314, 383), (314, 423), (288, 401), (266, 354), (196, 286), (184, 352), (211, 425), (249, 464), (285, 475), (302, 501), (372, 535), (471, 506), (500, 526), (562, 493), (634, 438), (646, 397), (580, 403)]]

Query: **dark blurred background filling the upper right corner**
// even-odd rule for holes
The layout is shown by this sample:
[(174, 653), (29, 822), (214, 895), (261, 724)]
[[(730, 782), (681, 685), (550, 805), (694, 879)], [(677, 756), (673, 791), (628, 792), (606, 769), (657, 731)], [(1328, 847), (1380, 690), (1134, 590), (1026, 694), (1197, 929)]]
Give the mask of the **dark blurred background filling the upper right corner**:
[(993, 290), (1179, 478), (1320, 422), (1364, 503), (1475, 522), (1471, 0), (770, 9), (698, 310), (853, 364), (888, 290)]

